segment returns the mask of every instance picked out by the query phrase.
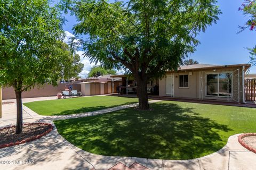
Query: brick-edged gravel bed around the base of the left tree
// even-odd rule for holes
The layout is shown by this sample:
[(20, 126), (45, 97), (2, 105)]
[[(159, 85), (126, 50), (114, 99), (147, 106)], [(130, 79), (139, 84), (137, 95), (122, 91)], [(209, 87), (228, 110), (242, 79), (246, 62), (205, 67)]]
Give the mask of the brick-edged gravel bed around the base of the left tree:
[(21, 143), (39, 139), (51, 132), (53, 126), (49, 123), (23, 124), (23, 131), (15, 134), (16, 126), (9, 126), (0, 129), (0, 148), (19, 145)]

